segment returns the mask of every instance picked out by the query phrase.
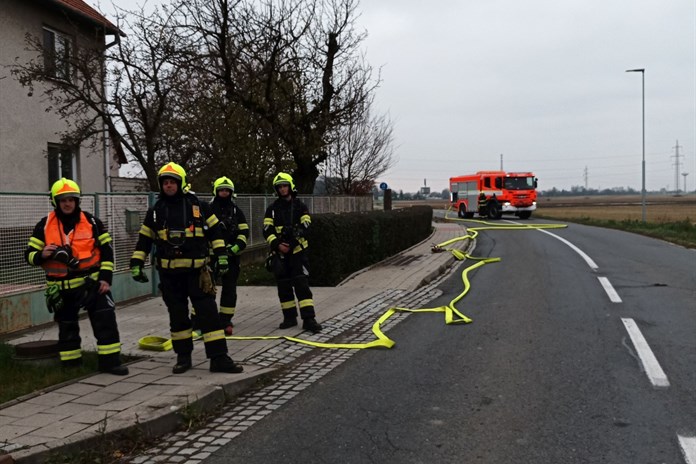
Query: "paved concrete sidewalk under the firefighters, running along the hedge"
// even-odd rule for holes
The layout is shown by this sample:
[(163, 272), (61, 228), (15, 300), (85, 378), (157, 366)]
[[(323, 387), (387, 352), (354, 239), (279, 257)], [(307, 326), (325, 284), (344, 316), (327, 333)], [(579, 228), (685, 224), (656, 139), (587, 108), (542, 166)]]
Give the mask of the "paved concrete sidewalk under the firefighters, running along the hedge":
[[(451, 253), (432, 253), (433, 244), (462, 236), (459, 224), (434, 223), (434, 233), (422, 243), (350, 276), (333, 288), (313, 288), (317, 320), (324, 330), (316, 335), (300, 327), (280, 330), (282, 319), (274, 287), (239, 287), (234, 317), (235, 336), (298, 336), (329, 342), (351, 329), (347, 317), (365, 302), (383, 305), (384, 311), (399, 305), (409, 292), (444, 273), (455, 261)], [(465, 249), (469, 241), (454, 244)], [(219, 292), (218, 292), (219, 293)], [(51, 452), (68, 453), (94, 446), (110, 434), (138, 430), (159, 436), (175, 430), (182, 409), (195, 406), (211, 410), (230, 397), (254, 387), (274, 374), (297, 345), (286, 340), (228, 340), (230, 355), (244, 366), (242, 374), (208, 371), (201, 342), (196, 342), (194, 368), (172, 374), (173, 351), (144, 351), (138, 341), (145, 336), (169, 337), (167, 310), (161, 298), (121, 306), (116, 313), (122, 351), (143, 359), (129, 365), (130, 374), (118, 377), (95, 374), (68, 385), (29, 395), (0, 405), (0, 464), (42, 462)], [(96, 350), (89, 321), (80, 323), (82, 347)], [(35, 331), (12, 340), (24, 343), (56, 340), (57, 327)], [(318, 350), (319, 348), (311, 348)]]

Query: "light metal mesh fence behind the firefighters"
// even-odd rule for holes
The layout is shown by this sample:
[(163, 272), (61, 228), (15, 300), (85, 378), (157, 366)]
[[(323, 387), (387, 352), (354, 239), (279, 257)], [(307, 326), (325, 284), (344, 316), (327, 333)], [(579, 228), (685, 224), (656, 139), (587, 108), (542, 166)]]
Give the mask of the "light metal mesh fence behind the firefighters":
[[(199, 195), (210, 201), (210, 195)], [(109, 230), (114, 246), (114, 270), (128, 269), (130, 257), (138, 240), (140, 224), (155, 193), (83, 194), (80, 207), (94, 213)], [(372, 197), (300, 196), (310, 214), (371, 211)], [(249, 246), (264, 243), (263, 215), (275, 198), (272, 196), (239, 195), (236, 203), (249, 223)], [(51, 212), (48, 195), (38, 193), (0, 192), (0, 296), (33, 290), (44, 285), (41, 268), (29, 266), (24, 250), (39, 220)]]

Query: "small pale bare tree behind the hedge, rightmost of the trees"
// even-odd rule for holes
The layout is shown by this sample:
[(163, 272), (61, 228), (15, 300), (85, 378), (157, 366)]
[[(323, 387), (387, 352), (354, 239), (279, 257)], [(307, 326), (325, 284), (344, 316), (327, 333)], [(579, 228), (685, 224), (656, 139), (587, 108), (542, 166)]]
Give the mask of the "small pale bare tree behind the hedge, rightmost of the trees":
[(386, 115), (371, 117), (371, 104), (335, 130), (324, 170), (329, 193), (367, 195), (393, 165), (393, 125)]

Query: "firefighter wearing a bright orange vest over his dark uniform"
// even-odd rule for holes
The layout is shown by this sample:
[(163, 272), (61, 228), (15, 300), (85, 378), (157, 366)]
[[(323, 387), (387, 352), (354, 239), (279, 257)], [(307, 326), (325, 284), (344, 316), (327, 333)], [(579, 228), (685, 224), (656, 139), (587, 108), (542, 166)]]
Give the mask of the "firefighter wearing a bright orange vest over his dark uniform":
[(78, 314), (84, 308), (97, 340), (99, 371), (127, 375), (111, 295), (111, 236), (97, 217), (80, 209), (76, 182), (56, 181), (50, 197), (54, 210), (34, 227), (24, 256), (46, 272), (46, 305), (58, 323), (61, 364), (82, 364)]

